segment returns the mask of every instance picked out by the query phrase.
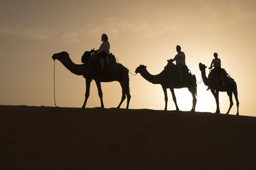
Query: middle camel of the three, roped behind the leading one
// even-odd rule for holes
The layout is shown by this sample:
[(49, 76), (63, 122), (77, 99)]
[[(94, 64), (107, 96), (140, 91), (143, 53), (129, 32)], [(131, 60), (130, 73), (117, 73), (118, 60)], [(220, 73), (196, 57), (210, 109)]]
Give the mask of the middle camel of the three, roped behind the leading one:
[[(170, 63), (169, 63), (170, 64)], [(164, 68), (164, 70), (157, 74), (152, 75), (148, 73), (147, 66), (140, 65), (136, 68), (135, 73), (140, 73), (143, 78), (145, 78), (147, 81), (153, 84), (160, 84), (164, 91), (164, 101), (165, 106), (164, 110), (167, 110), (167, 103), (168, 103), (168, 97), (167, 97), (167, 90), (170, 89), (172, 92), (173, 102), (175, 103), (176, 110), (179, 111), (179, 107), (177, 105), (174, 89), (181, 89), (184, 87), (187, 87), (189, 92), (191, 92), (193, 97), (193, 106), (191, 111), (195, 111), (196, 107), (196, 78), (195, 75), (188, 74), (187, 76), (184, 76), (182, 78), (183, 80), (179, 80), (179, 76), (177, 72), (175, 73), (175, 64), (169, 64)], [(168, 69), (166, 69), (168, 68)], [(168, 71), (167, 71), (168, 70)]]

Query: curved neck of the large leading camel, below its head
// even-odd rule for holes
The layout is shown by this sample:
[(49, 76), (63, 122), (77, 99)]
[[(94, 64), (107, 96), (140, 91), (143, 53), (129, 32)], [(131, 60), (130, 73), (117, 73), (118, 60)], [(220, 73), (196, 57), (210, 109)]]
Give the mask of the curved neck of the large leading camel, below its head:
[(86, 73), (87, 64), (75, 64), (72, 62), (70, 57), (61, 57), (60, 62), (69, 70), (71, 73), (76, 75), (84, 75)]

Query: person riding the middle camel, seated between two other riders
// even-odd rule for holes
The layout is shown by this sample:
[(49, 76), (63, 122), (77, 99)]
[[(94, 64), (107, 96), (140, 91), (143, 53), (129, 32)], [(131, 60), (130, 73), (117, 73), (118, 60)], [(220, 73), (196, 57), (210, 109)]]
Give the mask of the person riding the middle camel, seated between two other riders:
[(186, 66), (185, 63), (185, 53), (181, 52), (181, 47), (179, 45), (176, 46), (177, 54), (175, 55), (174, 59), (170, 59), (172, 62), (176, 61), (176, 66), (179, 71), (179, 78), (182, 80), (182, 70)]

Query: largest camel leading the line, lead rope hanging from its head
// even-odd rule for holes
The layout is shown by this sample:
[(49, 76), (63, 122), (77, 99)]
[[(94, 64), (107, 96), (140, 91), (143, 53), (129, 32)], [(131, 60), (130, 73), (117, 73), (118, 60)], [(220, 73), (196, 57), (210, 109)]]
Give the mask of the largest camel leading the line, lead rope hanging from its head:
[[(90, 75), (88, 75), (88, 64), (74, 64), (69, 57), (67, 52), (54, 53), (52, 55), (52, 59), (60, 60), (60, 62), (69, 70), (71, 73), (76, 75), (83, 75), (86, 79), (86, 92), (85, 99), (82, 108), (85, 108), (88, 97), (90, 96), (90, 85), (92, 80), (95, 81), (98, 89), (98, 94), (100, 97), (101, 108), (104, 108), (103, 100), (102, 100), (102, 90), (100, 82), (111, 82), (118, 81), (122, 87), (122, 99), (118, 104), (117, 108), (120, 108), (121, 104), (124, 102), (127, 97), (127, 105), (126, 108), (129, 108), (129, 102), (131, 99), (130, 90), (129, 90), (129, 72), (126, 67), (122, 64), (113, 64), (111, 66), (106, 66), (104, 68), (104, 73), (98, 73), (98, 71), (90, 71)], [(126, 95), (126, 97), (125, 97)]]

